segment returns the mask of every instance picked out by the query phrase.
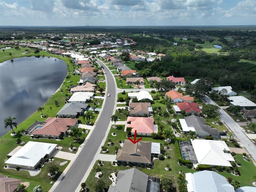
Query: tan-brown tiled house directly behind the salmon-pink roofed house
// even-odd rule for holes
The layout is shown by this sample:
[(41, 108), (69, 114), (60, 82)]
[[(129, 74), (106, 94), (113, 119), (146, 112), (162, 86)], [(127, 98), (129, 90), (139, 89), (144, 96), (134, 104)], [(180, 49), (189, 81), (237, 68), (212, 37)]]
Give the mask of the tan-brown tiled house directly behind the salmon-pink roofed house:
[(151, 106), (151, 103), (129, 103), (129, 109), (130, 109), (130, 116), (150, 116), (153, 114), (153, 108)]

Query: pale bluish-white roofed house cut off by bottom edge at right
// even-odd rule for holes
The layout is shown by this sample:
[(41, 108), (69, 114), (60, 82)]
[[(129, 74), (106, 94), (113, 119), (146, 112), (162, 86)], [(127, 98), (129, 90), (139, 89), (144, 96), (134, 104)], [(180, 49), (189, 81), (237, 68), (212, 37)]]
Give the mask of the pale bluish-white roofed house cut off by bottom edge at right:
[(186, 173), (188, 192), (235, 192), (226, 178), (214, 171)]

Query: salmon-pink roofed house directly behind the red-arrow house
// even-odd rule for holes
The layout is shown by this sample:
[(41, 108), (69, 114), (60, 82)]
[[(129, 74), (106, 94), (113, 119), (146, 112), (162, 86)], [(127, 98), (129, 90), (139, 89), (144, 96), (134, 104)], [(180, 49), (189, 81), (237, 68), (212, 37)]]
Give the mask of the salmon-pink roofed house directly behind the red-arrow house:
[(132, 135), (148, 135), (158, 132), (158, 126), (154, 124), (154, 118), (150, 117), (127, 117), (127, 127), (132, 128)]

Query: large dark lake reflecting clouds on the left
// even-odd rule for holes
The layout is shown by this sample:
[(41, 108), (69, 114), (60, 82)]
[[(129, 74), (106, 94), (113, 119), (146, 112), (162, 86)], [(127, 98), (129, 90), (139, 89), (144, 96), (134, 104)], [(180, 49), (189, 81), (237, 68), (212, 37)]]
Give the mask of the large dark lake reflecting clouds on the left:
[[(0, 136), (4, 119), (16, 117), (20, 124), (43, 106), (68, 74), (68, 65), (60, 59), (22, 57), (0, 63)], [(14, 128), (15, 130), (15, 128)]]

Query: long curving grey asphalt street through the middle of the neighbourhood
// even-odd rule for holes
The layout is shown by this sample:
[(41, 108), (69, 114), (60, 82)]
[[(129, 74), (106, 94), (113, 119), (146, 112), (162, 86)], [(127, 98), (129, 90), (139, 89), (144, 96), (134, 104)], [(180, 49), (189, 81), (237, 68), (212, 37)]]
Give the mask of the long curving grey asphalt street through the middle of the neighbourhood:
[[(104, 66), (100, 60), (98, 60), (98, 63)], [(114, 81), (112, 73), (108, 67), (104, 67), (104, 72), (106, 72), (107, 80), (106, 94), (110, 93), (110, 97), (105, 98), (104, 107), (99, 114), (100, 118), (98, 118), (98, 122), (92, 131), (90, 138), (82, 148), (76, 160), (64, 175), (64, 178), (54, 189), (54, 192), (72, 192), (75, 191), (78, 186), (80, 186), (80, 182), (84, 177), (84, 174), (88, 170), (94, 156), (96, 155), (96, 152), (100, 148), (100, 144), (104, 139), (104, 136), (106, 135), (116, 102), (116, 82)]]

